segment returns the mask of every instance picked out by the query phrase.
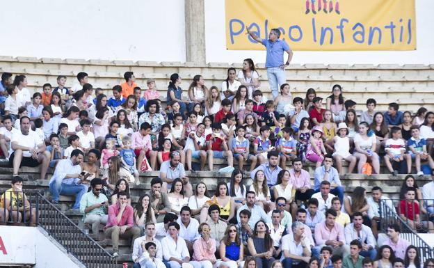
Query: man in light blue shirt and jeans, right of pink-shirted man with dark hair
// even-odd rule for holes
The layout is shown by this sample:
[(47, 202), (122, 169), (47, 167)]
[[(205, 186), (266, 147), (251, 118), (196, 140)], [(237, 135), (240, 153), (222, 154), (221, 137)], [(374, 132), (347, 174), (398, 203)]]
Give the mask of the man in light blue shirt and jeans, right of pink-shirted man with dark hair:
[(339, 197), (341, 204), (344, 203), (344, 187), (342, 187), (341, 180), (339, 179), (339, 173), (337, 169), (332, 167), (333, 157), (332, 155), (325, 155), (323, 160), (323, 166), (315, 169), (315, 181), (314, 190), (319, 192), (319, 186), (323, 180), (330, 182), (330, 193)]

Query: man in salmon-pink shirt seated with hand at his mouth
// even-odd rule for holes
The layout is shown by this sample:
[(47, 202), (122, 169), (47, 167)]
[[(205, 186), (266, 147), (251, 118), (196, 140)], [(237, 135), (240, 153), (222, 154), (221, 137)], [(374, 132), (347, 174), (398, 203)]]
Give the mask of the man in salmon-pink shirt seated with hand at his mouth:
[(131, 248), (134, 241), (140, 237), (140, 228), (134, 226), (133, 207), (128, 205), (129, 194), (126, 191), (118, 193), (118, 201), (109, 207), (109, 220), (104, 228), (104, 235), (111, 237), (113, 243), (113, 258), (119, 256), (119, 238), (131, 238)]

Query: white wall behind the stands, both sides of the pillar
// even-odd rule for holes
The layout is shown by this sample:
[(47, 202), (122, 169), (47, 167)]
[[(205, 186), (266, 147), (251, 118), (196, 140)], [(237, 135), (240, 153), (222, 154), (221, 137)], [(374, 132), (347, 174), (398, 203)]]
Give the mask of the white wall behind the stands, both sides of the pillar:
[[(264, 51), (226, 50), (224, 0), (196, 1), (204, 1), (207, 62), (264, 63)], [(434, 63), (434, 1), (415, 1), (416, 51), (296, 52), (293, 63)], [(1, 10), (4, 56), (186, 61), (183, 0), (16, 0)]]

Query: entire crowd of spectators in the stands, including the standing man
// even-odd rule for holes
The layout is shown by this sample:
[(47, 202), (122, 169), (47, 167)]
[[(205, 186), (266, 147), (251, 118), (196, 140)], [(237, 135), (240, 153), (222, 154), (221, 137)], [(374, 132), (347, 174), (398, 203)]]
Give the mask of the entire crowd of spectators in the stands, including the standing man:
[[(259, 89), (250, 58), (238, 74), (229, 68), (220, 88), (207, 88), (195, 75), (188, 97), (182, 77), (170, 75), (166, 103), (154, 79), (143, 90), (134, 72), (125, 72), (109, 96), (79, 72), (71, 88), (61, 75), (55, 88), (45, 84), (32, 97), (24, 75), (4, 72), (0, 153), (14, 177), (1, 196), (0, 218), (35, 222), (19, 168), (40, 166), (45, 180), (51, 167), (51, 202), (74, 196), (72, 208), (91, 235), (97, 238), (104, 225), (115, 257), (119, 239), (131, 239), (134, 267), (421, 268), (419, 251), (399, 236), (400, 226), (382, 230), (389, 238), (377, 244), (381, 202), (410, 228), (434, 232), (434, 181), (419, 189), (408, 175), (394, 203), (378, 186), (345, 196), (349, 189), (339, 175), (379, 174), (383, 162), (393, 175), (434, 179), (434, 113), (401, 112), (394, 102), (377, 111), (369, 98), (359, 115), (338, 84), (325, 105), (313, 88), (293, 97), (284, 76), (292, 52), (280, 31), (272, 29), (268, 40), (250, 36), (267, 49), (273, 99)], [(207, 184), (192, 185), (185, 168), (215, 171), (214, 159), (224, 159), (222, 170), (232, 176), (209, 196)], [(309, 162), (313, 184), (303, 169)], [(152, 170), (159, 178), (134, 205), (129, 184), (143, 183), (139, 173)]]

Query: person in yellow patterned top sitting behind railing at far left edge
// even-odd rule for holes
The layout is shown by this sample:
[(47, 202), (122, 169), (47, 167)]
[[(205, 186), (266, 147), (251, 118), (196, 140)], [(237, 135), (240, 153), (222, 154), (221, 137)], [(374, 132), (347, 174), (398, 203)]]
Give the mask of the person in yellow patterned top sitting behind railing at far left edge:
[[(29, 199), (22, 191), (23, 179), (13, 176), (11, 188), (1, 195), (0, 200), (0, 222), (8, 221), (10, 214), (13, 222), (31, 221), (36, 223), (36, 210), (31, 207)], [(6, 207), (6, 209), (5, 209)]]

